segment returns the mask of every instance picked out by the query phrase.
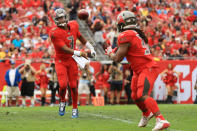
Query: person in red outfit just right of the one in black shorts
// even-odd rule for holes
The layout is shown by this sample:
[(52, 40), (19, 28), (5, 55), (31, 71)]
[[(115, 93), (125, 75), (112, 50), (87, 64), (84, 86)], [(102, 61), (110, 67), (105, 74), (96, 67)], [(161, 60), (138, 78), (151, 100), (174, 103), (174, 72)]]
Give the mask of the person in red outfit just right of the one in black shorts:
[(45, 64), (40, 65), (40, 70), (36, 72), (37, 77), (37, 84), (40, 86), (41, 91), (41, 105), (44, 106), (46, 102), (46, 91), (48, 87), (48, 77), (46, 72)]

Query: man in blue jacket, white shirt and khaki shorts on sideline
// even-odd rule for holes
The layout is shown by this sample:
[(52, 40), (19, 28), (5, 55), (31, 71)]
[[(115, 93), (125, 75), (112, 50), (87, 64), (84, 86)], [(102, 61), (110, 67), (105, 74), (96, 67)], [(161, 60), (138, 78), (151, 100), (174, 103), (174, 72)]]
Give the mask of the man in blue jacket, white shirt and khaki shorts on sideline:
[(15, 62), (11, 61), (11, 69), (6, 72), (5, 80), (7, 83), (7, 92), (9, 98), (9, 105), (12, 106), (12, 98), (16, 98), (16, 106), (18, 105), (18, 97), (20, 96), (20, 91), (18, 84), (21, 81), (21, 74), (19, 73), (18, 69), (15, 68)]

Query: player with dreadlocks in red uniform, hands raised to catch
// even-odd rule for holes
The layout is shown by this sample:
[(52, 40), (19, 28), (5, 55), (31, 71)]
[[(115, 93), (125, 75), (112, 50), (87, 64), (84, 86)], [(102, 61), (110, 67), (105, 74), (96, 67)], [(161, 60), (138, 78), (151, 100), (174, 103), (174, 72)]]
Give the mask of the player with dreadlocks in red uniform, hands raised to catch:
[(155, 116), (156, 125), (153, 130), (168, 128), (170, 123), (160, 113), (157, 102), (151, 97), (154, 81), (160, 73), (148, 48), (148, 39), (139, 29), (137, 18), (133, 12), (122, 11), (117, 16), (118, 49), (116, 53), (111, 47), (106, 54), (115, 61), (121, 62), (126, 56), (133, 70), (131, 97), (142, 111), (142, 119), (138, 126), (145, 127)]

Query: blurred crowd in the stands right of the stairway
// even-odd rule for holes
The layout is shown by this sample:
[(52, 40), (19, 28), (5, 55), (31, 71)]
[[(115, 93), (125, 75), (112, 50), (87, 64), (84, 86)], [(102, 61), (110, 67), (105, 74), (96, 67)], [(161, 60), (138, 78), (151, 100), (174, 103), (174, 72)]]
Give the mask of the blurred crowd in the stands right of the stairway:
[(145, 31), (151, 51), (161, 59), (195, 59), (197, 55), (197, 3), (195, 0), (83, 1), (96, 42), (116, 46), (116, 16), (133, 11)]

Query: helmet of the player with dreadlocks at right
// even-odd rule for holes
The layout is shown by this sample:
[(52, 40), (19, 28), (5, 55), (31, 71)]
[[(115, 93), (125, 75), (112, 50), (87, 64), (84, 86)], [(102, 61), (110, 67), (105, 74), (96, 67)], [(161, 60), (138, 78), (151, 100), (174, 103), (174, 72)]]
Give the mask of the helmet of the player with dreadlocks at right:
[(131, 11), (122, 11), (117, 16), (116, 25), (117, 25), (118, 32), (122, 32), (128, 28), (136, 28), (137, 18), (135, 14)]

